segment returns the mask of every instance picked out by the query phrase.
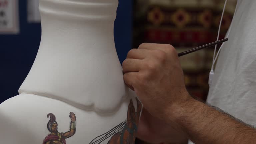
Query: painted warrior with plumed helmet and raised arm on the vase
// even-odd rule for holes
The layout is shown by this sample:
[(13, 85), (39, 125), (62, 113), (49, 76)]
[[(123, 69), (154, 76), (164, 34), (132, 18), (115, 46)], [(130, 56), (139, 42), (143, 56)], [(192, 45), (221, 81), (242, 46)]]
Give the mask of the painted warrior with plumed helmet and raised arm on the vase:
[(69, 114), (69, 117), (71, 119), (70, 131), (65, 133), (58, 132), (58, 123), (56, 122), (55, 115), (49, 113), (47, 115), (47, 118), (49, 118), (49, 116), (50, 120), (47, 124), (47, 129), (51, 132), (51, 134), (45, 137), (43, 144), (66, 144), (65, 139), (73, 136), (76, 132), (76, 115), (73, 112)]

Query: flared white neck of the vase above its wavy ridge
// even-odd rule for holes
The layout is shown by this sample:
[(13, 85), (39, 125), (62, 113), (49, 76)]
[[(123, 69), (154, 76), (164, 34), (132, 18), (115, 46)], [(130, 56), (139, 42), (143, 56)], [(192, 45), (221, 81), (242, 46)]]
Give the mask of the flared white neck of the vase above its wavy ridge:
[(114, 44), (117, 6), (118, 0), (41, 0), (41, 44), (19, 93), (115, 110), (130, 93)]

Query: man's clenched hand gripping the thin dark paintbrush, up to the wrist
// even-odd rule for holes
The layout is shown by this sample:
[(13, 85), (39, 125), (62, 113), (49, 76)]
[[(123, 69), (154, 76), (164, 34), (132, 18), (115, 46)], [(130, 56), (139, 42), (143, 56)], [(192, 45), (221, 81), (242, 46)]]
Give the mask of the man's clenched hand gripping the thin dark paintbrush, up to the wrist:
[(143, 106), (161, 120), (169, 121), (167, 117), (175, 106), (190, 98), (178, 54), (171, 45), (141, 44), (129, 51), (122, 65), (125, 83)]

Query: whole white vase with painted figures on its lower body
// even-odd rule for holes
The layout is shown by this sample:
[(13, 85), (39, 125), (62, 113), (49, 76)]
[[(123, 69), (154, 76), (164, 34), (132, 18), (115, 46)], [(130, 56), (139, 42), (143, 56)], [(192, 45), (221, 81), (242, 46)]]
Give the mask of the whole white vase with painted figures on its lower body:
[(134, 144), (142, 106), (115, 50), (117, 6), (40, 0), (40, 48), (20, 95), (0, 105), (0, 143)]

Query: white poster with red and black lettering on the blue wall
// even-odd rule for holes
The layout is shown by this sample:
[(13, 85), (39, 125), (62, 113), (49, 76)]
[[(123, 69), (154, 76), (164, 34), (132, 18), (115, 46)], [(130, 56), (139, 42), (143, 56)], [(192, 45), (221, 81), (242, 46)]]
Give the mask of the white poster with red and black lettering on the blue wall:
[(19, 33), (18, 0), (0, 0), (0, 34)]

